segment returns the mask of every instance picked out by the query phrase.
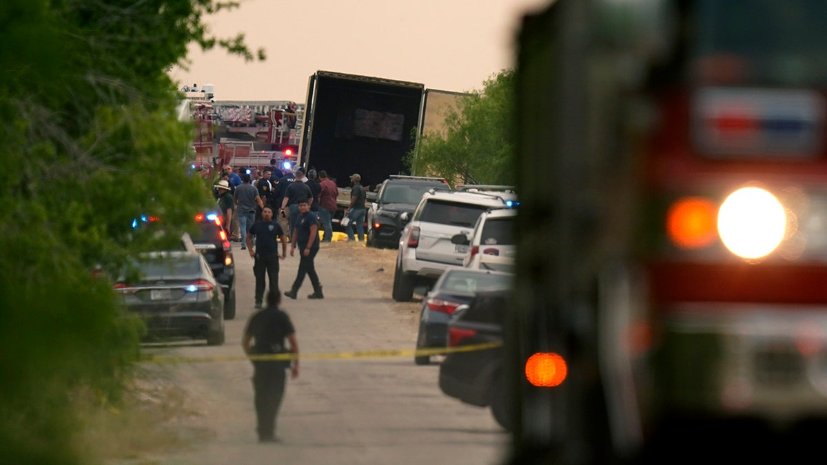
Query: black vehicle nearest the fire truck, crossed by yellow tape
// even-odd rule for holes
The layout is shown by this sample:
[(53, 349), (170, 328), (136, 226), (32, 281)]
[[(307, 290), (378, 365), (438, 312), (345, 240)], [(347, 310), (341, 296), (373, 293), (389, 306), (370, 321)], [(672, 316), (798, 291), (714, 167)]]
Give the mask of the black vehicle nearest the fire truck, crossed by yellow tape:
[[(454, 311), (447, 324), (448, 348), (474, 344), (503, 343), (509, 290), (478, 293), (470, 304)], [(439, 389), (450, 397), (479, 407), (490, 407), (491, 415), (510, 429), (509, 396), (505, 391), (504, 348), (449, 352), (439, 365)]]

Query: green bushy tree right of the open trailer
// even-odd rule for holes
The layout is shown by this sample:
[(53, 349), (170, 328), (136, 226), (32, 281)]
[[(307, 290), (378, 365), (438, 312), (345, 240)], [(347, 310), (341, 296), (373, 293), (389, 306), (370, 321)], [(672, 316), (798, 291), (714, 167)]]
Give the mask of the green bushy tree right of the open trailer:
[(412, 173), (452, 184), (514, 184), (514, 70), (495, 74), (444, 116), (447, 132), (424, 134), (407, 157)]

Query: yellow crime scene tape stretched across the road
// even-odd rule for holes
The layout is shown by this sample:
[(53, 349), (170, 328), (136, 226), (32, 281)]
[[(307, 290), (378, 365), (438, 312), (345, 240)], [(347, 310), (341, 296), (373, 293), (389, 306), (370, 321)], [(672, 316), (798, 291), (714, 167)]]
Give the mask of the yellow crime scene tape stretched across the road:
[[(336, 359), (336, 358), (387, 358), (387, 357), (425, 357), (431, 355), (446, 355), (453, 352), (476, 352), (492, 348), (500, 348), (503, 343), (484, 343), (461, 346), (457, 348), (425, 348), (415, 350), (367, 350), (356, 352), (318, 352), (300, 353), (299, 358), (308, 359)], [(165, 357), (146, 355), (141, 362), (146, 363), (206, 363), (206, 362), (238, 362), (240, 360), (251, 361), (277, 361), (292, 360), (295, 358), (292, 353), (273, 353), (261, 355), (228, 355), (224, 357)]]

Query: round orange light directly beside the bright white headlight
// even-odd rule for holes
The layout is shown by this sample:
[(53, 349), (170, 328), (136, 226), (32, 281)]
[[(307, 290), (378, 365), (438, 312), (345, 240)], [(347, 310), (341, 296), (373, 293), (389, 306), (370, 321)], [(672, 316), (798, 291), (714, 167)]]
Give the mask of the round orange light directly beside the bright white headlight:
[(718, 236), (718, 211), (709, 199), (686, 197), (667, 212), (667, 234), (677, 247), (708, 247)]

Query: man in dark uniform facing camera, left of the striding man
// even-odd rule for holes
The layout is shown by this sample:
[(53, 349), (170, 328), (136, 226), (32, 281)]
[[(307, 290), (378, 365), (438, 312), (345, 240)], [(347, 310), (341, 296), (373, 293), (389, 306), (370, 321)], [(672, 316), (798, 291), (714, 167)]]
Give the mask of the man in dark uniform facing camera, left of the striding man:
[[(252, 237), (256, 237), (256, 249), (253, 250)], [(281, 240), (281, 254), (279, 254), (279, 239)], [(253, 224), (246, 237), (247, 248), (250, 249), (253, 263), (253, 275), (256, 276), (256, 309), (261, 309), (261, 300), (264, 297), (265, 273), (270, 280), (270, 290), (279, 291), (279, 260), (287, 256), (287, 242), (284, 231), (278, 222), (273, 221), (273, 209), (265, 205), (261, 209), (261, 221)]]

